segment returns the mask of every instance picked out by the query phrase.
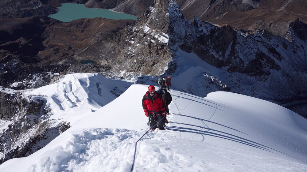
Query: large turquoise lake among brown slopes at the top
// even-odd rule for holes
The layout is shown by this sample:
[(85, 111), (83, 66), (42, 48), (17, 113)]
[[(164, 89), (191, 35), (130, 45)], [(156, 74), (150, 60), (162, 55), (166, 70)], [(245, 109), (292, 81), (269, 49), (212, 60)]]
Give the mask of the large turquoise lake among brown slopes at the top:
[(80, 18), (94, 18), (94, 17), (101, 17), (113, 20), (137, 19), (136, 16), (130, 14), (116, 13), (101, 8), (87, 8), (83, 4), (64, 3), (62, 4), (62, 6), (59, 7), (59, 9), (60, 9), (59, 12), (50, 15), (49, 17), (64, 22), (70, 22), (72, 20)]

